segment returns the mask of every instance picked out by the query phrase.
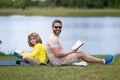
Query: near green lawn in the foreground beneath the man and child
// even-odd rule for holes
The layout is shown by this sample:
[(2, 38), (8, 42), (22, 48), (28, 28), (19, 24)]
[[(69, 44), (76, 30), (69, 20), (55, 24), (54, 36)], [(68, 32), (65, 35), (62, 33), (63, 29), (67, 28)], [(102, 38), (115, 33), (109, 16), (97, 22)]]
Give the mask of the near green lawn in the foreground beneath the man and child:
[[(98, 56), (106, 57), (105, 55)], [(0, 56), (1, 60), (16, 60), (13, 56)], [(0, 80), (119, 80), (120, 55), (109, 65), (89, 63), (80, 66), (0, 66)]]

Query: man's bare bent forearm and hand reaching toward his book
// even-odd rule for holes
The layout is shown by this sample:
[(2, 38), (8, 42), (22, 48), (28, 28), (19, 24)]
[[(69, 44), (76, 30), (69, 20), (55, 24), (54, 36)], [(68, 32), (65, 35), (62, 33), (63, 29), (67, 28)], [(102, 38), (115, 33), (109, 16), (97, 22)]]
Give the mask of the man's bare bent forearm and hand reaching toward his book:
[(65, 57), (69, 54), (72, 54), (72, 53), (75, 53), (76, 51), (75, 50), (71, 50), (69, 52), (64, 52), (64, 51), (61, 51), (59, 48), (57, 47), (54, 47), (54, 48), (51, 48), (51, 51), (55, 54), (55, 56), (57, 57)]

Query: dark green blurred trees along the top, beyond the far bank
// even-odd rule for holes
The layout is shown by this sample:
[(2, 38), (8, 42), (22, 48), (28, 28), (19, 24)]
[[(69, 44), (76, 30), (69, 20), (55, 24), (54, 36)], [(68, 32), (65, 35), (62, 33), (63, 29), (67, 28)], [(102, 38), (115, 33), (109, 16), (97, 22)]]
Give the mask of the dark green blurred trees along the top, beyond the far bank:
[(120, 0), (0, 0), (0, 8), (120, 8)]

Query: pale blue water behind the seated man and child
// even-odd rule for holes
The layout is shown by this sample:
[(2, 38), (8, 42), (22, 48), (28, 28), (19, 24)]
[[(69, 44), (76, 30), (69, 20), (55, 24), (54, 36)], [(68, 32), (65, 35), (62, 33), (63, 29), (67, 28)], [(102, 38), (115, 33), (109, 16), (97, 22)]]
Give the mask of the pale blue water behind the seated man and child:
[(0, 51), (9, 54), (15, 49), (31, 51), (27, 36), (40, 34), (45, 45), (54, 19), (63, 22), (61, 38), (65, 51), (81, 40), (79, 49), (88, 54), (120, 53), (120, 17), (47, 17), (47, 16), (0, 16)]

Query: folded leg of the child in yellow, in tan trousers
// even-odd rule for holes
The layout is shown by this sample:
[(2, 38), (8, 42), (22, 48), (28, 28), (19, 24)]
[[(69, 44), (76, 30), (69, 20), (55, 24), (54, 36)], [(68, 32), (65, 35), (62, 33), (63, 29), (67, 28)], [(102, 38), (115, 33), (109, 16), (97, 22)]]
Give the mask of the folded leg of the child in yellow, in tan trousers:
[(40, 64), (39, 60), (32, 58), (30, 56), (23, 56), (23, 61), (28, 62), (32, 65), (39, 65)]

